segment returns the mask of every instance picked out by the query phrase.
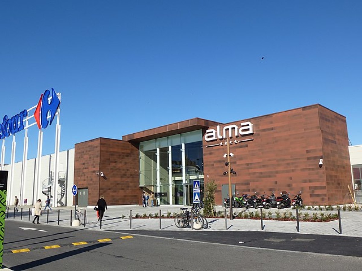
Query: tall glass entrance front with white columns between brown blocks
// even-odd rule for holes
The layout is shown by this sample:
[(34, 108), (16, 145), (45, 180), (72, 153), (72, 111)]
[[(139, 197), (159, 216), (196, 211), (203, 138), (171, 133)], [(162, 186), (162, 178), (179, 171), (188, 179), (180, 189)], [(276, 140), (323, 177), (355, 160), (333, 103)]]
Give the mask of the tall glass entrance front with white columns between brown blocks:
[(140, 188), (155, 193), (160, 205), (189, 205), (192, 182), (203, 187), (202, 131), (141, 142)]

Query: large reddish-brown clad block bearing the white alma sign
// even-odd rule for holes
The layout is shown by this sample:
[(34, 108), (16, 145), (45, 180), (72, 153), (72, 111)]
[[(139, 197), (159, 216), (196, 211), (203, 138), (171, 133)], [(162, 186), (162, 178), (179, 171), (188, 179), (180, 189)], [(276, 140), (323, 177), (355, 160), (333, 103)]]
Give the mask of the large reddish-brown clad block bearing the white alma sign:
[[(307, 205), (351, 202), (348, 185), (352, 176), (344, 116), (317, 104), (230, 124), (240, 127), (245, 121), (252, 122), (254, 134), (230, 138), (252, 139), (230, 145), (230, 152), (235, 155), (231, 157), (231, 167), (237, 175), (232, 175), (231, 180), (236, 192), (277, 194), (285, 190), (292, 195), (302, 190)], [(210, 128), (216, 130), (216, 126)], [(227, 169), (223, 157), (227, 146), (207, 146), (221, 142), (226, 139), (203, 139), (205, 182), (213, 179), (218, 184), (218, 204), (222, 203), (221, 185), (228, 184), (228, 175), (222, 174)]]

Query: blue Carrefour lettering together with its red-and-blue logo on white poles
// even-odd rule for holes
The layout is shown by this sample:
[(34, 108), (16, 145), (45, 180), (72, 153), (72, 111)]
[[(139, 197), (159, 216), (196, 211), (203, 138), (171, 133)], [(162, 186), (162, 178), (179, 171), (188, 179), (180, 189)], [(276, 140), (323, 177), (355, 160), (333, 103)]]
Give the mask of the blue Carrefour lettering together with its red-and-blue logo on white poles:
[[(46, 90), (41, 94), (37, 108), (34, 112), (34, 119), (37, 122), (39, 129), (45, 129), (48, 125), (51, 125), (59, 106), (60, 100), (53, 88), (51, 89), (51, 93), (49, 90)], [(5, 115), (3, 117), (3, 122), (0, 124), (0, 139), (4, 139), (11, 134), (14, 135), (24, 130), (23, 122), (26, 117), (28, 117), (28, 111), (26, 109), (12, 117)]]

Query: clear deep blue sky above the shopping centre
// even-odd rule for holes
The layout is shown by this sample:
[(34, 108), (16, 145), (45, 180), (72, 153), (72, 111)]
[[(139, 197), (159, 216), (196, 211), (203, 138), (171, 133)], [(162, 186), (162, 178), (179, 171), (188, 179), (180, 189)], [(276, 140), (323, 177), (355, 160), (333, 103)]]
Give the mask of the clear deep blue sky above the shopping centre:
[[(1, 1), (0, 119), (53, 87), (66, 150), (194, 117), (231, 122), (320, 103), (362, 144), (361, 14), (360, 0)], [(54, 126), (43, 154), (54, 152)]]

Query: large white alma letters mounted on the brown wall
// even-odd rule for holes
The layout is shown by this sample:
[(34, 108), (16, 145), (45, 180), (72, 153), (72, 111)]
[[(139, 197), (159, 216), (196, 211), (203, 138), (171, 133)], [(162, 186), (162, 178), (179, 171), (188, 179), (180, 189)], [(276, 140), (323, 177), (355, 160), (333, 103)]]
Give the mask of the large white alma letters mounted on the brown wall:
[(215, 129), (206, 130), (204, 138), (206, 141), (212, 141), (216, 139), (233, 137), (234, 134), (235, 137), (237, 137), (237, 136), (247, 136), (253, 133), (254, 133), (253, 124), (250, 121), (247, 121), (240, 123), (240, 128), (237, 125), (232, 124), (224, 126), (224, 128), (221, 130), (220, 125), (218, 125), (216, 131)]

